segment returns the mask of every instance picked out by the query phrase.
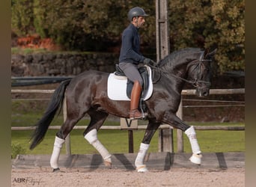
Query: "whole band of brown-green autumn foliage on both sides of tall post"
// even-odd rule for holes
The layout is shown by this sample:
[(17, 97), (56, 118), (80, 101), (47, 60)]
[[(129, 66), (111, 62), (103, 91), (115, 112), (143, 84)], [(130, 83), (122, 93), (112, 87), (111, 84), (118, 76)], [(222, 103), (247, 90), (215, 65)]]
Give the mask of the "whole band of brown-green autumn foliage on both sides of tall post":
[[(143, 7), (143, 52), (155, 52), (155, 2), (127, 0), (12, 0), (12, 31), (36, 32), (66, 50), (107, 51), (120, 47), (131, 7)], [(168, 2), (171, 51), (185, 47), (218, 49), (218, 73), (245, 70), (244, 0), (171, 0)], [(144, 49), (144, 50), (143, 50)]]

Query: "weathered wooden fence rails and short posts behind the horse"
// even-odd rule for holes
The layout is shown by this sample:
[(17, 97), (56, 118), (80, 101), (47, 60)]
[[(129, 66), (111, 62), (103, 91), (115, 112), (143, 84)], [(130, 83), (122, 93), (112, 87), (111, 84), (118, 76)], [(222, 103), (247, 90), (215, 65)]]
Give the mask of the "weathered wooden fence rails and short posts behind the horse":
[[(11, 90), (11, 93), (53, 93), (55, 90)], [(237, 89), (210, 89), (210, 94), (244, 94), (245, 88), (237, 88)], [(195, 90), (183, 90), (182, 95), (195, 95)], [(183, 118), (183, 104), (180, 102), (179, 110), (177, 111), (177, 116), (180, 119)], [(66, 119), (67, 111), (66, 105), (64, 102), (64, 120)], [(136, 128), (126, 128), (130, 133), (135, 129), (146, 129), (147, 126), (136, 126)], [(60, 129), (61, 126), (49, 126), (49, 129)], [(86, 129), (87, 126), (74, 126), (73, 129)], [(12, 126), (11, 130), (33, 130), (34, 126)], [(121, 130), (121, 126), (102, 126), (100, 129), (117, 129)], [(196, 130), (233, 130), (233, 131), (243, 131), (245, 130), (245, 126), (195, 126)], [(168, 151), (173, 152), (173, 136), (172, 136), (173, 128), (167, 124), (162, 124), (159, 127), (159, 152)], [(133, 138), (133, 136), (131, 136)], [(132, 142), (132, 145), (129, 144), (129, 150), (133, 152), (133, 140), (129, 139), (129, 142)], [(130, 146), (132, 149), (130, 149)], [(177, 152), (183, 152), (183, 132), (177, 129)], [(70, 148), (70, 135), (66, 138), (66, 153), (68, 155), (71, 154)]]

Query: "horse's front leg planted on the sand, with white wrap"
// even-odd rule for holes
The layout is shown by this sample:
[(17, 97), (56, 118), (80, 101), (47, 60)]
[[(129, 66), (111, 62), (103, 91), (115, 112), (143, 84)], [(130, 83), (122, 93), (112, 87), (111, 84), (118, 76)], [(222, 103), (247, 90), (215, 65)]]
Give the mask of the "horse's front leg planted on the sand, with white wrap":
[(147, 167), (144, 165), (144, 157), (147, 150), (150, 147), (150, 141), (153, 138), (154, 133), (160, 126), (160, 123), (150, 121), (147, 125), (147, 129), (144, 133), (144, 138), (138, 150), (138, 155), (135, 159), (135, 167), (138, 172), (147, 172)]

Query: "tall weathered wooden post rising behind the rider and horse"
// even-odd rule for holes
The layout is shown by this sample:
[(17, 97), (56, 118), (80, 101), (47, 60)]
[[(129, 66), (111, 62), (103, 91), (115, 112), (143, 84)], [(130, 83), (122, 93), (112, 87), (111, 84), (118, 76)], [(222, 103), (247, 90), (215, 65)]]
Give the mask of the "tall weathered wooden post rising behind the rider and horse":
[[(170, 53), (168, 31), (168, 1), (156, 0), (156, 61)], [(173, 152), (173, 130), (159, 130), (159, 152)]]

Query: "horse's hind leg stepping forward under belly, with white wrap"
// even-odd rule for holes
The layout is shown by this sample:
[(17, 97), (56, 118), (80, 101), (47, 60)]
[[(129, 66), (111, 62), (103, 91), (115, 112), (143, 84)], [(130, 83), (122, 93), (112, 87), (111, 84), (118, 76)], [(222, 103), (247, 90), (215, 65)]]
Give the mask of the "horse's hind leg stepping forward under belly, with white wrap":
[(97, 138), (97, 131), (100, 129), (100, 126), (103, 125), (103, 122), (106, 120), (106, 117), (108, 117), (109, 114), (100, 111), (90, 111), (88, 114), (91, 116), (91, 122), (88, 125), (88, 128), (85, 129), (84, 137), (103, 157), (104, 165), (111, 168), (111, 154)]

